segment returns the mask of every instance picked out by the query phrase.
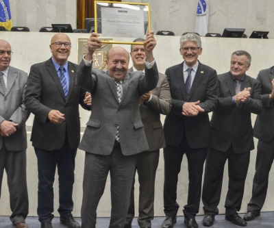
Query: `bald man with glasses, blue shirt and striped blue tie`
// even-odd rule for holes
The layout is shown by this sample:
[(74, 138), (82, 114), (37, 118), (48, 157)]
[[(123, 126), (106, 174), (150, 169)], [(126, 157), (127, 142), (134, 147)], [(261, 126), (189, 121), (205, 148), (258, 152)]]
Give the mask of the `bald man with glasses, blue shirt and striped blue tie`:
[(51, 228), (57, 166), (60, 223), (76, 228), (79, 223), (71, 212), (75, 156), (80, 140), (79, 104), (88, 108), (84, 103), (88, 93), (75, 85), (77, 65), (68, 62), (69, 37), (56, 34), (49, 47), (52, 57), (31, 67), (25, 92), (27, 110), (35, 115), (31, 140), (38, 161), (37, 213), (41, 227)]

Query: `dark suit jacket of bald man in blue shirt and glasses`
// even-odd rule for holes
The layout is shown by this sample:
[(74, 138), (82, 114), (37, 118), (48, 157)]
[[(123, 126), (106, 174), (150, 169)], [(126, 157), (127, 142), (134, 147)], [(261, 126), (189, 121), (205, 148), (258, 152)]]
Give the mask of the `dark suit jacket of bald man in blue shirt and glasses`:
[[(32, 145), (48, 151), (61, 149), (67, 134), (69, 147), (76, 149), (80, 141), (79, 104), (84, 104), (85, 91), (75, 85), (77, 64), (69, 62), (69, 93), (67, 99), (51, 58), (32, 65), (27, 79), (25, 105), (32, 112)], [(58, 125), (47, 118), (51, 110), (65, 114), (66, 120)]]

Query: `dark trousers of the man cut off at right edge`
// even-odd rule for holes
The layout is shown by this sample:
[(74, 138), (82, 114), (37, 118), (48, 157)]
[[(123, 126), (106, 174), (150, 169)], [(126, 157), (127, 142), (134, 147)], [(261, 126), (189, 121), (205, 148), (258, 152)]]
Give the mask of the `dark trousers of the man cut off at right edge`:
[(256, 173), (253, 179), (252, 197), (247, 211), (260, 212), (266, 199), (269, 186), (269, 171), (274, 160), (274, 139), (270, 142), (258, 141), (256, 157)]

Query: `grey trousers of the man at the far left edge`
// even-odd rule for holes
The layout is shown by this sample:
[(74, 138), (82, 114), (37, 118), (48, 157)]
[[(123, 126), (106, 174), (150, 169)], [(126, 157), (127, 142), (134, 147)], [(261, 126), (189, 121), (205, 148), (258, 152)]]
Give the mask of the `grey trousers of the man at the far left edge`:
[(0, 197), (3, 172), (7, 173), (10, 192), (10, 220), (13, 224), (25, 222), (29, 214), (29, 199), (27, 196), (26, 151), (8, 151), (0, 149)]

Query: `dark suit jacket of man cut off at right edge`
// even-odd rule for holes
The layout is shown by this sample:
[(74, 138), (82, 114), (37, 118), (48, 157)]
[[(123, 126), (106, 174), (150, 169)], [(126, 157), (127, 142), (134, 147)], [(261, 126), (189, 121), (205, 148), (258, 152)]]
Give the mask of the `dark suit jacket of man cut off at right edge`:
[(269, 101), (274, 79), (274, 66), (259, 72), (257, 80), (261, 83), (262, 113), (256, 117), (254, 137), (269, 142), (274, 137), (274, 101)]

